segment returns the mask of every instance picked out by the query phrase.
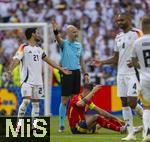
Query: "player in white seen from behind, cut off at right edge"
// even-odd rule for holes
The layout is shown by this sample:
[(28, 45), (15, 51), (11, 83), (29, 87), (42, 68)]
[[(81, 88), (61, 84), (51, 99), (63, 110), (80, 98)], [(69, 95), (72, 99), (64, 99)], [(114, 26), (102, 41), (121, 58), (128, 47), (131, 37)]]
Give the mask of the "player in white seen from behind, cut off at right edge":
[(150, 142), (150, 15), (143, 17), (142, 30), (144, 35), (134, 43), (132, 61), (136, 67), (140, 65), (140, 84), (143, 91), (140, 98), (144, 106), (143, 142)]

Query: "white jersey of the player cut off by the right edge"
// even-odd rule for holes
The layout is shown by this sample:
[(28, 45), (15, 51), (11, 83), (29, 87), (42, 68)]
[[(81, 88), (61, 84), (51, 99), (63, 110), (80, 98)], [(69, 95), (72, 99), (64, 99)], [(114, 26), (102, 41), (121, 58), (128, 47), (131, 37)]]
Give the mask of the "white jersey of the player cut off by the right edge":
[(140, 79), (150, 81), (150, 35), (144, 35), (134, 43), (132, 57), (140, 64)]

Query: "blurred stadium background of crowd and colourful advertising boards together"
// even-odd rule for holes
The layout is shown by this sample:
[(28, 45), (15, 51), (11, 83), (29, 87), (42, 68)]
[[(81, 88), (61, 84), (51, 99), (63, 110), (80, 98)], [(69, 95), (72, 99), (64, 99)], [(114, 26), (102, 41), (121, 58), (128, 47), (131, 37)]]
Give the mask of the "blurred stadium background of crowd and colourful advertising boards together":
[[(104, 85), (93, 101), (116, 114), (121, 112), (121, 103), (116, 95), (116, 66), (93, 68), (90, 66), (90, 59), (106, 59), (112, 55), (114, 37), (119, 32), (114, 19), (120, 11), (130, 12), (133, 25), (140, 28), (141, 17), (150, 11), (150, 0), (0, 0), (0, 23), (47, 23), (48, 56), (57, 63), (60, 61), (60, 51), (51, 30), (51, 21), (56, 20), (63, 37), (68, 24), (77, 26), (80, 29), (79, 40), (84, 47), (84, 60), (91, 81)], [(19, 66), (13, 71), (9, 82), (5, 79), (5, 71), (18, 46), (26, 42), (23, 31), (24, 28), (0, 29), (0, 116), (16, 115), (21, 103)], [(41, 37), (42, 34), (41, 29)], [(41, 39), (41, 46), (43, 40)], [(49, 88), (52, 90), (49, 93), (51, 103), (47, 107), (51, 115), (58, 115), (60, 77), (58, 70), (49, 70)], [(27, 115), (30, 114), (30, 109), (31, 106)], [(40, 109), (40, 114), (44, 115), (44, 100), (41, 100)]]

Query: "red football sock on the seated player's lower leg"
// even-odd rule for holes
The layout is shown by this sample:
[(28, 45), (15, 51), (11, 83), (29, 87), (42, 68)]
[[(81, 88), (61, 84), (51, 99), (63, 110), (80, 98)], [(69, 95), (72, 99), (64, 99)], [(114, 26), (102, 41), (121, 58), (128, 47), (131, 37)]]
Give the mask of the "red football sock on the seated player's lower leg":
[(111, 129), (117, 132), (120, 132), (120, 127), (117, 126), (116, 124), (110, 122), (109, 119), (103, 117), (103, 116), (99, 116), (96, 120), (96, 122), (103, 128), (107, 128), (107, 129)]

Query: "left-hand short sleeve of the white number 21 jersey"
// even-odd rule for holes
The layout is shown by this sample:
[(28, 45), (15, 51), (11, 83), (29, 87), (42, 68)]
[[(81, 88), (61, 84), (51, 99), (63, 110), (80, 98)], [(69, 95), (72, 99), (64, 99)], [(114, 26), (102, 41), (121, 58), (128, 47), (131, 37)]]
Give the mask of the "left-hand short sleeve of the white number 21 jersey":
[(25, 44), (21, 44), (20, 47), (18, 48), (15, 56), (13, 57), (13, 59), (18, 59), (21, 60), (24, 56), (24, 48), (25, 48)]

